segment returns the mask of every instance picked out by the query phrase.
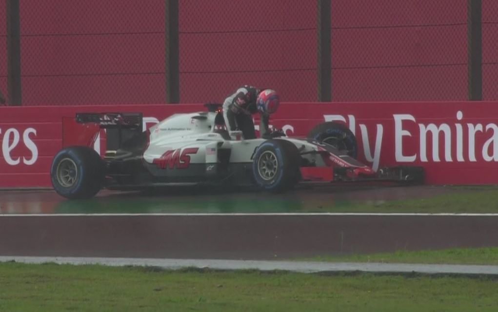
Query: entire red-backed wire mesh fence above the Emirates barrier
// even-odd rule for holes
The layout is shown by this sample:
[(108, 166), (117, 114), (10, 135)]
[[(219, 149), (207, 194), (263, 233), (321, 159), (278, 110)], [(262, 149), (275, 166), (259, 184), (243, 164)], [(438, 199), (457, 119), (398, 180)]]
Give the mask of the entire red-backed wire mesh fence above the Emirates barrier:
[[(315, 102), (327, 77), (323, 55), (332, 101), (468, 100), (481, 79), (476, 64), (482, 98), (498, 99), (492, 0), (4, 0), (0, 89), (8, 100), (16, 89), (7, 83), (6, 25), (16, 15), (7, 4), (16, 1), (22, 105), (167, 103), (175, 92), (180, 103), (222, 102), (245, 84), (273, 88), (283, 101)], [(329, 41), (320, 38), (324, 1)], [(472, 67), (469, 5), (481, 1), (482, 64)], [(177, 26), (169, 23), (172, 2)], [(178, 90), (168, 76), (173, 65)]]

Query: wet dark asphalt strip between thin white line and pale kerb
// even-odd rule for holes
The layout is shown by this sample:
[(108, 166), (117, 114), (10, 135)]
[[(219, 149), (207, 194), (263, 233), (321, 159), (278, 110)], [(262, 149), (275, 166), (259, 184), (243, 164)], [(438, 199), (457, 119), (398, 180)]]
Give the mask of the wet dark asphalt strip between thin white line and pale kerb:
[(286, 259), (496, 246), (496, 225), (487, 216), (6, 216), (0, 255)]

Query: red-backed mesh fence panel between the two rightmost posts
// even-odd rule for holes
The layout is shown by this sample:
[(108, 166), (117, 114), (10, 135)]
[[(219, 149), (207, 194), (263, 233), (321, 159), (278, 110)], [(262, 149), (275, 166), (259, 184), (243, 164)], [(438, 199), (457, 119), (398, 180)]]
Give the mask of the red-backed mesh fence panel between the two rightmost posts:
[(332, 1), (336, 101), (467, 98), (467, 0)]

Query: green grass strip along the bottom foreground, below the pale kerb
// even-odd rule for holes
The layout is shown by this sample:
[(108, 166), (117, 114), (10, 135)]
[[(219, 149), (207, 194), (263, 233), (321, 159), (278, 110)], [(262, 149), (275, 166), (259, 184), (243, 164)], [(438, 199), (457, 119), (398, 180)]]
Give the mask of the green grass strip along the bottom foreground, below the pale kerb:
[(0, 311), (496, 311), (486, 277), (0, 264)]

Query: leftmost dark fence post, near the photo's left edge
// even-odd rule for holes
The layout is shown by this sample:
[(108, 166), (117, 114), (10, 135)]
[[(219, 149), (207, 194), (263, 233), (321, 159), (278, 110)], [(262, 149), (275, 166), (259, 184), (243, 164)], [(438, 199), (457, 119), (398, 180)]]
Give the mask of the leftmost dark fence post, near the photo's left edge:
[(7, 93), (10, 105), (21, 105), (21, 28), (19, 0), (6, 0)]

